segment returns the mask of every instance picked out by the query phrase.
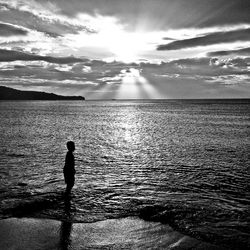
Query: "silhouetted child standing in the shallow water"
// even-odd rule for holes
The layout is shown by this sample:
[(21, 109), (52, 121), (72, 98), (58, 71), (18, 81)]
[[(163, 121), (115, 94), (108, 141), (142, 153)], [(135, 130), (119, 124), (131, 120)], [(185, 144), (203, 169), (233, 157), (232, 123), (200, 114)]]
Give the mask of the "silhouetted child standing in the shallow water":
[(75, 143), (73, 141), (67, 142), (68, 152), (65, 158), (65, 165), (63, 168), (64, 180), (66, 183), (66, 194), (70, 194), (71, 189), (75, 184), (75, 157), (73, 152), (75, 151)]

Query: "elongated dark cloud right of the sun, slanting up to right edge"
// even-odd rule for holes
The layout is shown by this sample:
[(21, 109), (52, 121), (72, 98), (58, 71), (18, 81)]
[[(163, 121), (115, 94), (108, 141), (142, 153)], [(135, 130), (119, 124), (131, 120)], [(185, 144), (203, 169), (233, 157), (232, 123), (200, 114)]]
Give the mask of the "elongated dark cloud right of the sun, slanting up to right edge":
[(250, 28), (225, 32), (214, 32), (205, 36), (178, 40), (168, 44), (159, 45), (157, 50), (178, 50), (238, 41), (250, 41)]

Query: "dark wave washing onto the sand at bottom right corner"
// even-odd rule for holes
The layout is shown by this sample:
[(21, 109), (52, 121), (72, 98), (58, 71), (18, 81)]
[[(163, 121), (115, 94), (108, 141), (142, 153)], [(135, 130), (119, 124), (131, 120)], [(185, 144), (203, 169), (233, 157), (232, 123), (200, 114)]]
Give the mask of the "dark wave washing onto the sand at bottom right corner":
[(196, 239), (230, 246), (229, 249), (250, 249), (249, 214), (235, 213), (231, 218), (223, 210), (207, 210), (193, 206), (152, 205), (139, 211), (139, 217), (169, 224)]

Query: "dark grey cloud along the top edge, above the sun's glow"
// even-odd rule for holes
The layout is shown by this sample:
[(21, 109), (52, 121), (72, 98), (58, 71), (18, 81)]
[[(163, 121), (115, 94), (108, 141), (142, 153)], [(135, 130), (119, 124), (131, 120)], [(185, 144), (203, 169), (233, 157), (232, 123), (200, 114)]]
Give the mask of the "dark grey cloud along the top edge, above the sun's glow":
[[(43, 0), (39, 0), (43, 2)], [(51, 0), (61, 13), (116, 16), (133, 29), (142, 22), (147, 28), (212, 27), (250, 23), (249, 0)]]

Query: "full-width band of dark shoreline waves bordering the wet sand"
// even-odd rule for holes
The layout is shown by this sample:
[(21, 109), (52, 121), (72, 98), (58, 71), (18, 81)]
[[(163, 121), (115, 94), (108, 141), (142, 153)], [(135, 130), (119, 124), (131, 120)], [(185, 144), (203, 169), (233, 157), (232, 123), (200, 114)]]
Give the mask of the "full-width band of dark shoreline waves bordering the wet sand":
[[(107, 198), (107, 197), (106, 197)], [(77, 205), (77, 199), (83, 201)], [(250, 248), (249, 213), (246, 210), (194, 206), (187, 203), (169, 202), (167, 204), (147, 203), (133, 200), (130, 204), (114, 208), (105, 206), (90, 196), (65, 196), (61, 191), (37, 193), (29, 199), (16, 200), (12, 206), (1, 208), (2, 218), (35, 217), (50, 218), (61, 221), (97, 222), (106, 219), (117, 219), (137, 216), (145, 221), (168, 224), (175, 230), (206, 242), (230, 246), (229, 249)], [(7, 205), (7, 204), (6, 204)]]

